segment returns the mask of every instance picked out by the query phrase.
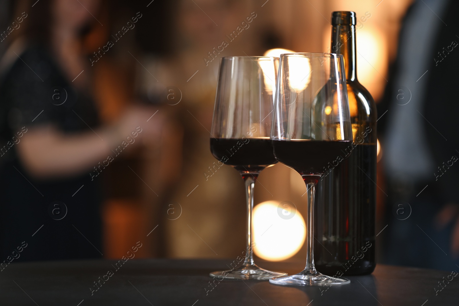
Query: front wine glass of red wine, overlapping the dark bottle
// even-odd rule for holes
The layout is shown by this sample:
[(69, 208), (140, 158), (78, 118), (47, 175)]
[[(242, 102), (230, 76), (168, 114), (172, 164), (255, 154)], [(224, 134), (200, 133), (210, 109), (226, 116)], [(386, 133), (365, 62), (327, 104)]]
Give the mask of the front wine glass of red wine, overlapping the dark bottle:
[(308, 228), (306, 267), (298, 274), (269, 280), (279, 285), (348, 284), (316, 271), (313, 257), (314, 191), (325, 169), (352, 152), (352, 128), (343, 56), (294, 53), (280, 56), (271, 128), (275, 158), (306, 183)]

